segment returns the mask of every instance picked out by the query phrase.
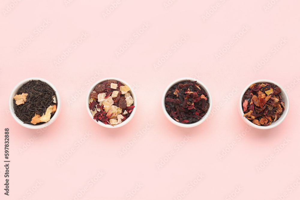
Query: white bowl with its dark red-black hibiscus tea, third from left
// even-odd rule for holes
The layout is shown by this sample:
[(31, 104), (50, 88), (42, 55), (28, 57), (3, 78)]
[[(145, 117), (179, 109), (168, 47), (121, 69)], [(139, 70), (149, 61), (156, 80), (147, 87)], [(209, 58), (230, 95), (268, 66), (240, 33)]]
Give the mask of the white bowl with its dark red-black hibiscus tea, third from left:
[(168, 85), (162, 97), (162, 108), (167, 119), (180, 127), (195, 127), (211, 112), (208, 88), (193, 78), (181, 78)]

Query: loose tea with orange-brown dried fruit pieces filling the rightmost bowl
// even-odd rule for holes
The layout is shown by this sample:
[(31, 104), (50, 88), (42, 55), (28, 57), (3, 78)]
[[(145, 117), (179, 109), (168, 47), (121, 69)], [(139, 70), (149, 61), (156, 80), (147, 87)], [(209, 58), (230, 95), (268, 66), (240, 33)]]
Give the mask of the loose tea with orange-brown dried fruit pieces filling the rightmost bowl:
[(284, 111), (281, 89), (270, 83), (252, 84), (242, 98), (244, 117), (258, 126), (268, 126)]

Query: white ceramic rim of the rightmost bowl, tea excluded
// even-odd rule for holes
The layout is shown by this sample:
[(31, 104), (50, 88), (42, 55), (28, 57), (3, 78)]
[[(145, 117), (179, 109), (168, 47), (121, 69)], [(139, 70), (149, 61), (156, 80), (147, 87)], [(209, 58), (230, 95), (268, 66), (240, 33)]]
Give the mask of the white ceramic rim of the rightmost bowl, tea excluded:
[[(283, 114), (281, 115), (281, 117), (278, 118), (275, 122), (272, 122), (271, 125), (268, 125), (268, 126), (258, 126), (256, 124), (253, 124), (247, 118), (243, 117), (244, 116), (244, 112), (243, 112), (243, 106), (242, 106), (242, 98), (243, 98), (245, 92), (247, 91), (247, 89), (250, 87), (250, 85), (252, 85), (254, 83), (265, 83), (265, 82), (266, 83), (275, 84), (275, 85), (277, 85), (281, 89), (280, 96), (281, 96), (281, 100), (284, 102), (285, 110), (283, 111)], [(241, 117), (242, 117), (243, 121), (246, 122), (246, 124), (248, 124), (249, 126), (251, 126), (253, 128), (258, 128), (258, 129), (270, 129), (270, 128), (274, 128), (274, 127), (278, 126), (286, 118), (286, 115), (289, 112), (289, 97), (287, 96), (286, 91), (277, 82), (274, 82), (274, 81), (271, 81), (271, 80), (267, 80), (267, 79), (260, 79), (260, 80), (256, 80), (256, 81), (253, 81), (253, 82), (249, 83), (249, 85), (247, 85), (245, 87), (245, 89), (242, 91), (238, 103), (239, 103), (239, 110), (240, 110)]]

